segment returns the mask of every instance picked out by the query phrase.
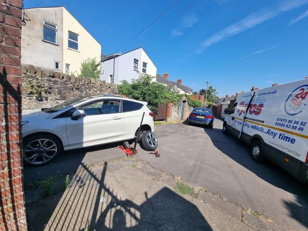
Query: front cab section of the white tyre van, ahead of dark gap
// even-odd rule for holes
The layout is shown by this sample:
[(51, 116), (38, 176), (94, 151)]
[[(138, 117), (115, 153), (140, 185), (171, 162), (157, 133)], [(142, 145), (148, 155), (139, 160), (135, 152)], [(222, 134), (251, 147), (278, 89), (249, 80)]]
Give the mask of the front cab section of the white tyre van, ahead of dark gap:
[(253, 95), (254, 92), (247, 92), (239, 95), (239, 98), (234, 103), (232, 109), (225, 116), (227, 130), (235, 137), (240, 138), (244, 124), (244, 117)]

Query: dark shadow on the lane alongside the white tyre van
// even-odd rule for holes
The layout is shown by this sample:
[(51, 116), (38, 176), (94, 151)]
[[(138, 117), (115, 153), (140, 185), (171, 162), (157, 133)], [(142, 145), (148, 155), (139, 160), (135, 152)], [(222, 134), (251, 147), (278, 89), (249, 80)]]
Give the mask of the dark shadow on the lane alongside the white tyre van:
[[(200, 125), (192, 125), (203, 127)], [(291, 192), (296, 197), (294, 201), (283, 201), (285, 209), (288, 210), (289, 216), (308, 227), (308, 186), (294, 178), (291, 174), (269, 161), (262, 165), (253, 161), (250, 157), (250, 148), (243, 142), (232, 136), (222, 136), (222, 129), (209, 129), (204, 127), (214, 146), (224, 155), (236, 161), (249, 171), (254, 172), (259, 178), (272, 184), (275, 187)], [(239, 146), (245, 151), (238, 153)]]

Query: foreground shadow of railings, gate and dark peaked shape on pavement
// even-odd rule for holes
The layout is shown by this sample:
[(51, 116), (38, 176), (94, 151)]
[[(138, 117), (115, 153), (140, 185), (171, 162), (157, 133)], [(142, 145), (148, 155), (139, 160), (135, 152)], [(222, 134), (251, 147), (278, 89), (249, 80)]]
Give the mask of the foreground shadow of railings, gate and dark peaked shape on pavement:
[(70, 188), (29, 204), (29, 230), (211, 230), (194, 204), (167, 187), (150, 197), (145, 191), (141, 204), (122, 199), (102, 167), (99, 175), (81, 163)]

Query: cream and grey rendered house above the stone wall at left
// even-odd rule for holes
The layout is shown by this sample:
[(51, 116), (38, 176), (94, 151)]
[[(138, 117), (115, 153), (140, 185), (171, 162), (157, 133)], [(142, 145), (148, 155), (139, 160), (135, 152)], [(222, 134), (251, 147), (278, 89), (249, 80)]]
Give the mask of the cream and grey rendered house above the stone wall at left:
[(24, 9), (22, 64), (80, 74), (88, 58), (101, 61), (101, 45), (64, 6)]

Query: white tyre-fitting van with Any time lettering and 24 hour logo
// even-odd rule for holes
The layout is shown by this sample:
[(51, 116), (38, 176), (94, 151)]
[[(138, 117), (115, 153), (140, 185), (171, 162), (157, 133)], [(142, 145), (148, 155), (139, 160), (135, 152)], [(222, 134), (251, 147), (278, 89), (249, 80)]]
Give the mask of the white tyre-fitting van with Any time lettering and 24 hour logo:
[(308, 183), (308, 79), (241, 94), (223, 133), (250, 145), (255, 161), (266, 157)]

